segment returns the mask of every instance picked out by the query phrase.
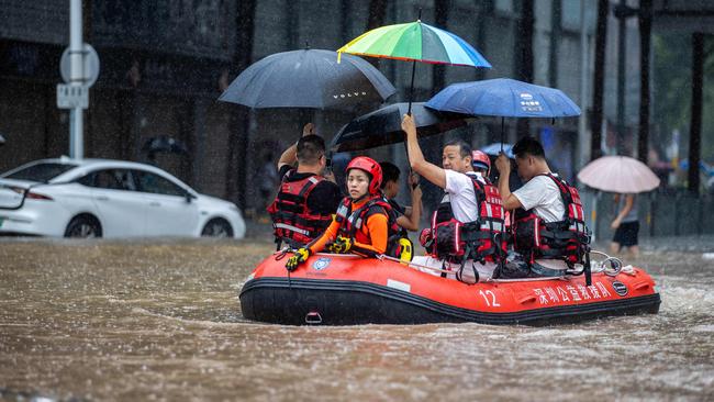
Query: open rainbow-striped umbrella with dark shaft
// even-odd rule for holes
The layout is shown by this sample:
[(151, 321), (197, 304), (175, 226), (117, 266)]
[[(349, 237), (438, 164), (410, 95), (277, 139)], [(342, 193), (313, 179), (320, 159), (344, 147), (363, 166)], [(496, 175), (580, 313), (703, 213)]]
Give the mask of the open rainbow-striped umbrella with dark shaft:
[(338, 55), (343, 53), (413, 62), (410, 112), (416, 62), (491, 68), (491, 64), (466, 41), (421, 20), (366, 32), (337, 49)]

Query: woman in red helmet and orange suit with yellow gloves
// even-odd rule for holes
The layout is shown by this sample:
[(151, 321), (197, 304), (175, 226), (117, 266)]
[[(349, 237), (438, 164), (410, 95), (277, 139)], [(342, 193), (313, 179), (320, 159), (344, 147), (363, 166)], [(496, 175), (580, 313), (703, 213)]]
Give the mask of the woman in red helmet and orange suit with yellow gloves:
[(373, 256), (387, 250), (389, 219), (381, 205), (382, 168), (373, 159), (358, 156), (347, 165), (345, 172), (349, 196), (341, 203), (325, 233), (288, 259), (286, 268), (289, 271), (295, 270), (311, 254), (323, 250), (328, 243), (327, 249), (333, 253)]

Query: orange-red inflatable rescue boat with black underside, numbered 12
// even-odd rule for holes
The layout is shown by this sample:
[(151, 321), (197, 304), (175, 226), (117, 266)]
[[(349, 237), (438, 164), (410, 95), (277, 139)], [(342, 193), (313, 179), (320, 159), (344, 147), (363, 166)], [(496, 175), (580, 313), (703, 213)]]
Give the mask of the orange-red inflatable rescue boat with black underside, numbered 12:
[(250, 273), (241, 291), (244, 317), (289, 325), (548, 325), (657, 313), (660, 304), (649, 275), (610, 257), (593, 263), (585, 286), (583, 275), (468, 284), (389, 257), (335, 254), (311, 256), (288, 272), (281, 256), (274, 254)]

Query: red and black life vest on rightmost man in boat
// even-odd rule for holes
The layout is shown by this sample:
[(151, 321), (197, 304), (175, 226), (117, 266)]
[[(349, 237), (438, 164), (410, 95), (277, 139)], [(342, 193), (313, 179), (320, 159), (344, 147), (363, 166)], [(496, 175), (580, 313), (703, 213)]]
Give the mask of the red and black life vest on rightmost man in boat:
[(532, 264), (536, 258), (562, 259), (569, 267), (587, 264), (590, 252), (590, 231), (578, 189), (553, 174), (543, 174), (558, 187), (565, 216), (562, 221), (544, 222), (533, 211), (517, 209), (514, 214), (514, 249)]

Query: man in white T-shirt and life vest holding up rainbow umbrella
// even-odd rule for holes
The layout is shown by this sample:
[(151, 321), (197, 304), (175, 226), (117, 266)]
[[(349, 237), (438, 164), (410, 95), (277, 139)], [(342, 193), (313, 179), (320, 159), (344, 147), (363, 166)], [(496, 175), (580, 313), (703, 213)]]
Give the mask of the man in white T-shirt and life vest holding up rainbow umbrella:
[(473, 171), (471, 149), (464, 141), (444, 146), (440, 168), (424, 159), (411, 115), (404, 115), (402, 130), (412, 169), (445, 190), (431, 228), (420, 236), (431, 256), (414, 261), (453, 271), (447, 277), (469, 283), (480, 277), (492, 277), (505, 257), (503, 208), (498, 189)]

